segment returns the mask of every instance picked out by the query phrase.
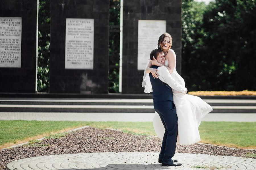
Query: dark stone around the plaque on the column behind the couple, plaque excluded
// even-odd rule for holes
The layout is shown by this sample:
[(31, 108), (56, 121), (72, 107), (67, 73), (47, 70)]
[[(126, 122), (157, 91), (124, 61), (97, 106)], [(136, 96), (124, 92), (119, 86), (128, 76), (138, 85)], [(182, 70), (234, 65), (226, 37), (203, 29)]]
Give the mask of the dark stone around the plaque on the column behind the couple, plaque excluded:
[(123, 12), (122, 93), (144, 94), (144, 71), (137, 70), (138, 20), (166, 20), (166, 31), (172, 35), (177, 57), (176, 69), (181, 73), (181, 1), (129, 0), (124, 1)]

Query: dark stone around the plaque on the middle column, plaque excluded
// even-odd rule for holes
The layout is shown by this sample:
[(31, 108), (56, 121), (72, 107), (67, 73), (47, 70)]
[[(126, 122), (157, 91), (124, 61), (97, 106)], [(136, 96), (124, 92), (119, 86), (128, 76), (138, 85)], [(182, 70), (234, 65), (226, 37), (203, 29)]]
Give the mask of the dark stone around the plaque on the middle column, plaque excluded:
[[(50, 93), (108, 93), (109, 0), (63, 2), (51, 1)], [(65, 69), (66, 18), (94, 19), (93, 70)]]

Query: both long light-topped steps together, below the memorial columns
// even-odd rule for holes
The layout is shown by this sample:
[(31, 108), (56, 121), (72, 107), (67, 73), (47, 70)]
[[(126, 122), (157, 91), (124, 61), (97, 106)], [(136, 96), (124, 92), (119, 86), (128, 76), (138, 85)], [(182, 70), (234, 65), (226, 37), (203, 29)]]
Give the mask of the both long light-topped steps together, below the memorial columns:
[[(254, 99), (204, 99), (213, 107), (211, 113), (256, 113)], [(154, 112), (153, 99), (0, 99), (0, 112)]]

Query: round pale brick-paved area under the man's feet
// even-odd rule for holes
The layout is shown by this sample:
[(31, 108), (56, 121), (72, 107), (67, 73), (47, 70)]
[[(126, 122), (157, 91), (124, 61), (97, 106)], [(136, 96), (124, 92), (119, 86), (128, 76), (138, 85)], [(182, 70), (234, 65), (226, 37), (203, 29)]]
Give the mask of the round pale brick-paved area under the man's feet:
[(180, 167), (162, 167), (158, 163), (158, 153), (154, 152), (102, 152), (39, 156), (24, 158), (7, 164), (11, 170), (153, 170), (153, 169), (199, 169), (193, 166), (206, 166), (206, 169), (255, 170), (256, 159), (232, 156), (176, 153), (174, 159), (182, 163)]

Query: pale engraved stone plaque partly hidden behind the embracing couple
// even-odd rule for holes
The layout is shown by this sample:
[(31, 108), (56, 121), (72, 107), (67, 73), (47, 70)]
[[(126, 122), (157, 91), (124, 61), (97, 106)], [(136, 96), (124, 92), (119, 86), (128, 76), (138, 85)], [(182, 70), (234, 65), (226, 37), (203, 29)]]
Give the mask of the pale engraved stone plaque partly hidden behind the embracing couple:
[(166, 32), (165, 20), (139, 20), (138, 23), (138, 70), (144, 70), (150, 52), (157, 47), (158, 38)]

